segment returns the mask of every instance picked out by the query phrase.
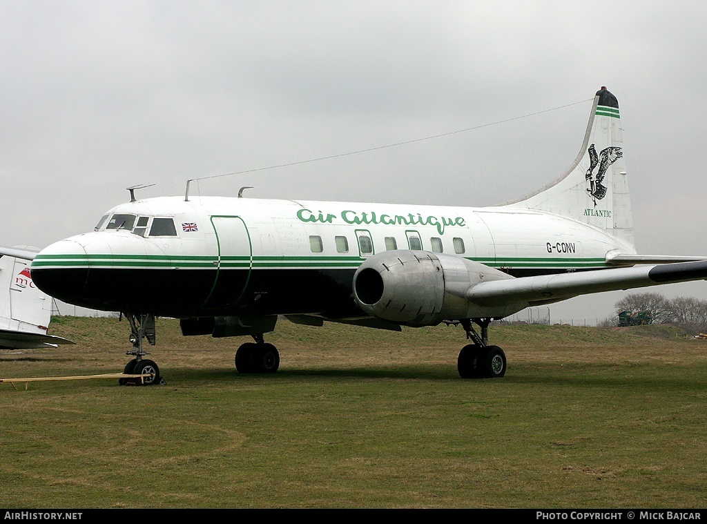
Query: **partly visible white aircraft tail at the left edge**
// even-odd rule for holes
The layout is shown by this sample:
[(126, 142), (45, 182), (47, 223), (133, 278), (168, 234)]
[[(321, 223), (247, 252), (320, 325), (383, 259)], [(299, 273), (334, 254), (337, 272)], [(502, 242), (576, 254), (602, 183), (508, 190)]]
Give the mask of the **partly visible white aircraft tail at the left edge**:
[[(13, 249), (6, 249), (7, 253)], [(74, 344), (47, 334), (52, 318), (52, 298), (37, 289), (30, 275), (26, 250), (0, 255), (0, 348), (29, 349)], [(25, 258), (23, 258), (23, 256)]]

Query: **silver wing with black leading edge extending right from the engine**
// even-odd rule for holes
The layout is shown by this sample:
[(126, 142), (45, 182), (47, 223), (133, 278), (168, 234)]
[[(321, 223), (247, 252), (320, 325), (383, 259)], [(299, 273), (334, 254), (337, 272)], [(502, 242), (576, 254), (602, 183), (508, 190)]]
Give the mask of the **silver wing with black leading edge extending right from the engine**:
[(536, 305), (588, 293), (700, 279), (707, 280), (706, 260), (484, 281), (469, 287), (464, 298), (478, 305)]

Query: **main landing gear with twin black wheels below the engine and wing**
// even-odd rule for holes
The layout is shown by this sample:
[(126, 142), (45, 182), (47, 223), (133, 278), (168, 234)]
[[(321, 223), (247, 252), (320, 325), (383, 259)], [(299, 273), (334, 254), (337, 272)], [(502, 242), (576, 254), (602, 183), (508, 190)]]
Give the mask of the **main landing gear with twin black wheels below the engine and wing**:
[[(481, 327), (481, 337), (474, 331), (473, 320)], [(474, 344), (462, 348), (457, 359), (457, 368), (462, 378), (501, 378), (506, 374), (506, 354), (498, 346), (489, 346), (490, 318), (461, 320), (460, 324), (467, 332), (467, 339)]]

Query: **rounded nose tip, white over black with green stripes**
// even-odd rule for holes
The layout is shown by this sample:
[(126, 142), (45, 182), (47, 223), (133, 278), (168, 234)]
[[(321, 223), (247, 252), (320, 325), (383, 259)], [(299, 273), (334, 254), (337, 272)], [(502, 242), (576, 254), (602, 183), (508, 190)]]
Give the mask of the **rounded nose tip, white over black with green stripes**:
[(88, 279), (88, 256), (75, 240), (59, 240), (40, 251), (30, 266), (35, 285), (61, 301), (80, 296)]

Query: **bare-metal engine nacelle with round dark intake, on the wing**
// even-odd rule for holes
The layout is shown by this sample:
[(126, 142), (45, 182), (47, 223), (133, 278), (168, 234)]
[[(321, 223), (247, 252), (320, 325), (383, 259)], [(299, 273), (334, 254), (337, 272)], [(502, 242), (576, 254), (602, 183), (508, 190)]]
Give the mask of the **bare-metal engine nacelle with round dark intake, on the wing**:
[(512, 279), (462, 257), (428, 251), (385, 251), (369, 257), (354, 274), (354, 300), (368, 315), (411, 326), (443, 320), (505, 317), (526, 307), (479, 306), (467, 290), (481, 281)]

